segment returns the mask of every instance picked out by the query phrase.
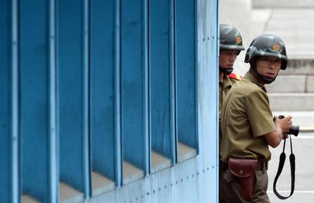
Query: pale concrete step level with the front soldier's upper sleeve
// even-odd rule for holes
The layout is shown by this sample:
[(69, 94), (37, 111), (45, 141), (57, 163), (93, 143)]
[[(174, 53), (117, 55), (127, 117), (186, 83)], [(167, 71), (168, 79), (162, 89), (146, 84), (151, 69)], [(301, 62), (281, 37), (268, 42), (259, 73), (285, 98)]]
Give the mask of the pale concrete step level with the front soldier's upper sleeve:
[(314, 93), (268, 93), (272, 111), (314, 111)]

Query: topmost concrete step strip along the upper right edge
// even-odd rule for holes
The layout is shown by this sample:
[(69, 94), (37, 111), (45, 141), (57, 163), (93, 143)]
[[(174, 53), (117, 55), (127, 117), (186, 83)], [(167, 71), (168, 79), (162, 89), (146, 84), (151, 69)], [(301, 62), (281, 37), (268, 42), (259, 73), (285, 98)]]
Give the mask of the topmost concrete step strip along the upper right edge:
[(253, 8), (309, 8), (314, 7), (312, 0), (253, 0)]

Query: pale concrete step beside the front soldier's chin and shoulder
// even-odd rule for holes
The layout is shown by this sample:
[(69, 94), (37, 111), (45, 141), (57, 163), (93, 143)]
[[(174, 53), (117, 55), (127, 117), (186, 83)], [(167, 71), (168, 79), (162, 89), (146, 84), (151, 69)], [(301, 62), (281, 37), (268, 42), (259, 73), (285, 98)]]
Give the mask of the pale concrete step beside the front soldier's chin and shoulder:
[(278, 75), (271, 84), (265, 85), (273, 93), (314, 93), (314, 75)]

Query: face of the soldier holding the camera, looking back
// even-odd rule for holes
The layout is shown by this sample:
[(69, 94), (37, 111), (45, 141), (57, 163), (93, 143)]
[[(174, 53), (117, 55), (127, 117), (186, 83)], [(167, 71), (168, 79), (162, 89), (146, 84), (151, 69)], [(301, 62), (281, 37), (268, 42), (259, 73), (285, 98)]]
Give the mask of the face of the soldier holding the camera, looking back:
[(269, 78), (275, 78), (281, 69), (281, 59), (275, 57), (258, 57), (256, 61), (257, 73)]

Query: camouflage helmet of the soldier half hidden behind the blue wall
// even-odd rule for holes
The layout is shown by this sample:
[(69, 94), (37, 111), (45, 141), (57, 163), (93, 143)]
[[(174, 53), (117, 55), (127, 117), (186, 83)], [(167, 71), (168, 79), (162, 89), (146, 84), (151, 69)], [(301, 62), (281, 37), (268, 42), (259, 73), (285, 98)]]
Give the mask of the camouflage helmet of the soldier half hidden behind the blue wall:
[(242, 45), (242, 37), (239, 31), (229, 24), (220, 24), (220, 39), (219, 49), (220, 50), (244, 50)]

